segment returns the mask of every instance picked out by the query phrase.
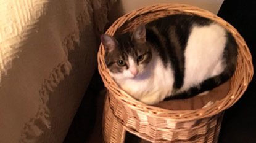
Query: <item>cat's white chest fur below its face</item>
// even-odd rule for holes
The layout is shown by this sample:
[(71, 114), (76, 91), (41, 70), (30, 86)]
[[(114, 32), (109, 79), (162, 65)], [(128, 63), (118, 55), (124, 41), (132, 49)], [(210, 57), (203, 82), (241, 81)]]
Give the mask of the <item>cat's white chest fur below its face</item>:
[(136, 79), (117, 81), (123, 90), (146, 104), (155, 104), (163, 101), (165, 97), (171, 95), (173, 88), (173, 71), (171, 71), (170, 67), (165, 68), (162, 60), (154, 58), (152, 60), (154, 63), (150, 63), (149, 67), (147, 67), (151, 69), (148, 70), (151, 73), (145, 73), (148, 74), (146, 78), (139, 76)]

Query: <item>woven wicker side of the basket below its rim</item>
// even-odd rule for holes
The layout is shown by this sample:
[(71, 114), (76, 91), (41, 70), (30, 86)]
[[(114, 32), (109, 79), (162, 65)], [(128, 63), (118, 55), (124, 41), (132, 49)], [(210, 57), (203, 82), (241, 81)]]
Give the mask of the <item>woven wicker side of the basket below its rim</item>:
[[(105, 142), (125, 140), (126, 131), (151, 142), (217, 142), (223, 112), (212, 117), (175, 122), (147, 117), (130, 107), (118, 105), (112, 93), (107, 94), (103, 116)], [(122, 117), (120, 115), (124, 115)]]

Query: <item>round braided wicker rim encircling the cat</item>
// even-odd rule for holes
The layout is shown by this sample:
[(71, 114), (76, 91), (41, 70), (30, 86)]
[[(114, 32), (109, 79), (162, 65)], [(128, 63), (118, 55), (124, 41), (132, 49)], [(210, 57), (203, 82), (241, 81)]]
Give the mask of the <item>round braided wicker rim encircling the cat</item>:
[[(220, 100), (220, 101), (225, 101), (225, 102), (215, 102), (215, 104), (218, 104), (218, 107), (217, 107), (218, 109), (215, 110), (217, 112), (208, 112), (209, 109), (212, 109), (213, 105), (215, 105), (215, 104), (213, 104), (212, 106), (209, 106), (209, 107), (195, 109), (195, 110), (168, 110), (168, 109), (163, 109), (160, 107), (150, 106), (150, 105), (144, 104), (142, 102), (139, 102), (136, 99), (134, 99), (132, 96), (128, 95), (128, 93), (126, 93), (125, 91), (123, 91), (121, 88), (118, 87), (117, 83), (115, 83), (112, 78), (111, 78), (111, 80), (113, 80), (113, 81), (111, 81), (111, 82), (113, 82), (113, 85), (109, 85), (109, 83), (105, 80), (104, 77), (106, 76), (106, 73), (103, 73), (102, 71), (107, 71), (107, 69), (104, 68), (104, 66), (102, 66), (102, 64), (105, 64), (105, 63), (104, 63), (104, 58), (102, 59), (102, 53), (104, 53), (104, 48), (103, 48), (103, 45), (101, 44), (100, 48), (99, 48), (99, 52), (98, 52), (98, 63), (99, 63), (98, 68), (99, 68), (99, 73), (101, 74), (102, 80), (104, 81), (105, 87), (107, 87), (107, 89), (110, 92), (115, 93), (115, 91), (117, 91), (117, 92), (122, 93), (122, 95), (124, 95), (124, 96), (117, 96), (115, 94), (112, 94), (112, 95), (114, 95), (123, 104), (126, 104), (126, 106), (135, 108), (137, 112), (143, 112), (143, 114), (147, 114), (147, 115), (151, 115), (151, 116), (155, 116), (155, 117), (165, 117), (165, 118), (169, 118), (170, 120), (173, 119), (173, 117), (168, 116), (168, 114), (167, 115), (165, 115), (165, 114), (159, 115), (159, 114), (157, 114), (157, 112), (168, 112), (169, 114), (173, 113), (173, 114), (177, 114), (177, 115), (180, 114), (180, 115), (178, 115), (179, 117), (177, 117), (173, 120), (184, 121), (184, 120), (192, 120), (192, 119), (210, 117), (212, 115), (218, 114), (218, 113), (222, 112), (223, 110), (228, 109), (229, 107), (233, 106), (233, 104), (239, 98), (241, 98), (241, 96), (244, 93), (244, 91), (246, 90), (248, 84), (252, 80), (252, 75), (254, 74), (253, 66), (252, 66), (252, 56), (249, 52), (249, 48), (247, 47), (246, 42), (244, 41), (242, 36), (239, 34), (239, 32), (228, 22), (226, 22), (222, 18), (218, 17), (217, 15), (213, 14), (212, 12), (209, 12), (207, 10), (200, 9), (199, 7), (191, 6), (188, 4), (176, 4), (176, 3), (153, 4), (153, 5), (149, 5), (149, 6), (140, 7), (138, 9), (128, 12), (127, 14), (118, 18), (109, 27), (109, 29), (107, 29), (107, 31), (105, 33), (113, 36), (114, 35), (113, 33), (115, 33), (117, 31), (117, 29), (120, 28), (122, 25), (124, 25), (128, 20), (131, 20), (138, 15), (146, 14), (148, 12), (157, 12), (159, 10), (180, 10), (186, 14), (196, 14), (196, 15), (199, 15), (202, 17), (210, 18), (222, 26), (228, 26), (229, 29), (227, 29), (227, 30), (229, 32), (231, 32), (234, 37), (235, 36), (238, 37), (239, 40), (242, 41), (242, 44), (244, 44), (243, 47), (239, 46), (239, 49), (241, 49), (241, 48), (246, 49), (247, 54), (248, 54), (246, 58), (249, 61), (249, 64), (246, 65), (247, 66), (246, 68), (251, 69), (252, 72), (249, 72), (248, 70), (246, 70), (246, 72), (249, 72), (249, 73), (247, 73), (249, 75), (249, 77), (244, 77), (247, 81), (244, 82), (244, 84), (241, 83), (244, 86), (244, 90), (242, 90), (241, 93), (239, 93), (239, 95), (229, 95), (229, 93), (228, 93), (229, 96), (227, 95), (227, 96), (225, 96), (225, 98)], [(223, 21), (223, 23), (225, 23), (225, 24), (220, 23), (220, 21)], [(235, 37), (235, 39), (237, 42), (238, 38), (236, 38), (236, 37)], [(237, 69), (236, 69), (236, 71), (237, 71)], [(109, 74), (108, 71), (107, 71), (107, 74)], [(234, 80), (234, 75), (231, 80)], [(237, 97), (234, 99), (234, 96), (237, 96)], [(231, 102), (231, 103), (229, 102), (229, 104), (228, 104), (228, 101), (230, 99), (231, 100), (233, 99), (233, 102)], [(145, 109), (145, 108), (151, 109), (151, 112), (144, 112), (142, 109)], [(155, 112), (154, 112), (154, 110), (155, 110)], [(191, 117), (189, 117), (189, 115), (187, 115), (187, 118), (183, 118), (183, 116), (182, 116), (183, 114), (191, 114), (191, 112), (197, 112), (198, 113), (197, 117), (191, 118)], [(194, 115), (192, 115), (192, 116), (194, 116)]]

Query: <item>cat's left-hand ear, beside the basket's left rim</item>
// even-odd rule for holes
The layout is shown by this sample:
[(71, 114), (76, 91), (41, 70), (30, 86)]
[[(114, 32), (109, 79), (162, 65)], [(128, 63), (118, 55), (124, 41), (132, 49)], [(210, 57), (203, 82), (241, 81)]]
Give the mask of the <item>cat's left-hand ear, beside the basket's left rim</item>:
[(108, 34), (101, 35), (101, 42), (104, 45), (105, 52), (107, 53), (114, 50), (118, 44), (117, 40)]

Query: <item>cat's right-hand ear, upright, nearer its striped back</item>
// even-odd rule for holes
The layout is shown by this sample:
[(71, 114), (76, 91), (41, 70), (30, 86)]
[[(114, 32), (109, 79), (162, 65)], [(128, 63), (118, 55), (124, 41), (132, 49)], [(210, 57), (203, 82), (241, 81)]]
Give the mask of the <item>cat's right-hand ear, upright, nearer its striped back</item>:
[(145, 25), (139, 25), (138, 28), (135, 29), (132, 36), (133, 40), (138, 43), (146, 42), (146, 28)]

